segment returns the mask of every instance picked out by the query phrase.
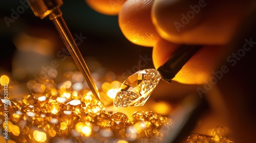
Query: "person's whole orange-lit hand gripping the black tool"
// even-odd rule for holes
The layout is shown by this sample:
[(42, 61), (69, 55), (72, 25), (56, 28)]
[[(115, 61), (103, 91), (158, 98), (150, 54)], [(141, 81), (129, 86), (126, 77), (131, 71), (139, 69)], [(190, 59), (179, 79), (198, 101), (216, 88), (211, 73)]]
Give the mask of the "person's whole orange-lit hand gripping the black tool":
[[(225, 45), (230, 42), (244, 17), (255, 7), (253, 1), (86, 1), (97, 3), (98, 7), (100, 3), (109, 4), (109, 10), (106, 8), (105, 11), (118, 12), (121, 8), (119, 26), (122, 33), (135, 44), (154, 46), (153, 63), (156, 68), (180, 44), (205, 45), (173, 79), (185, 84), (202, 84), (212, 76), (212, 71), (225, 55)], [(110, 2), (116, 4), (116, 9)]]

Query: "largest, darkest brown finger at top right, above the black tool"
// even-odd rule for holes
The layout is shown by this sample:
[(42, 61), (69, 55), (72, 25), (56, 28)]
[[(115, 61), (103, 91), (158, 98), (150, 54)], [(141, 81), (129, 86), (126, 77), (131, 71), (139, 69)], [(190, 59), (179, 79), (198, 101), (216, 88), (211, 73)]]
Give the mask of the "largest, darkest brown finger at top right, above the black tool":
[(161, 37), (168, 41), (227, 44), (245, 15), (255, 8), (252, 2), (156, 0), (152, 20)]

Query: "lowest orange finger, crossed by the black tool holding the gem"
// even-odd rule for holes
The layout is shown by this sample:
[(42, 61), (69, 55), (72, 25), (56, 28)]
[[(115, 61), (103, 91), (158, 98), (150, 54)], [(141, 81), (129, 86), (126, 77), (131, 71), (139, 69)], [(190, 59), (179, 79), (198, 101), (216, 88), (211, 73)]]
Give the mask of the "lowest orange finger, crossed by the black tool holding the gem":
[[(160, 38), (153, 47), (154, 66), (158, 68), (162, 65), (179, 46)], [(184, 84), (203, 84), (212, 76), (212, 71), (215, 70), (222, 56), (223, 47), (204, 46), (191, 57), (173, 80)]]

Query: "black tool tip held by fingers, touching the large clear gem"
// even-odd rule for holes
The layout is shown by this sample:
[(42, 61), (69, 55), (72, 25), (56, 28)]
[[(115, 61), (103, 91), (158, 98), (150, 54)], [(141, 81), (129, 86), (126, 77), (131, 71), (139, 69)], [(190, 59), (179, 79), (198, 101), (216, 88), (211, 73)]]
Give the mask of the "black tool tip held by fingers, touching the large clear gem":
[(181, 45), (179, 49), (170, 54), (166, 62), (157, 68), (161, 78), (170, 83), (184, 64), (195, 54), (202, 45)]

